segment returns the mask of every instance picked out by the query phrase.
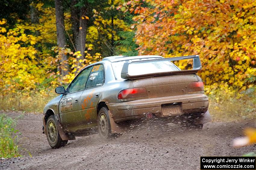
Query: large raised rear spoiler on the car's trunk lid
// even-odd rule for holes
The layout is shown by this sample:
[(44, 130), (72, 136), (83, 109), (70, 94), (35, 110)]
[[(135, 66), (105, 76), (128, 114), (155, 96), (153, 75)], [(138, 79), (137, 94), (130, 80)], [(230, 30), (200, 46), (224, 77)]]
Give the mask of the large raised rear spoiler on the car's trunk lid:
[[(128, 74), (128, 66), (131, 63), (144, 63), (144, 62), (150, 62), (150, 61), (177, 61), (177, 60), (185, 60), (185, 59), (193, 59), (193, 69), (192, 70), (178, 70), (178, 71), (149, 73), (149, 74), (134, 75), (134, 76)], [(143, 61), (132, 61), (132, 62), (125, 62), (123, 64), (123, 68), (121, 71), (121, 78), (135, 80), (135, 79), (143, 79), (143, 78), (156, 77), (156, 76), (168, 76), (168, 75), (175, 75), (175, 74), (194, 74), (194, 73), (197, 73), (201, 69), (202, 69), (202, 65), (201, 65), (201, 61), (200, 61), (198, 55), (160, 58), (160, 59), (143, 60)]]

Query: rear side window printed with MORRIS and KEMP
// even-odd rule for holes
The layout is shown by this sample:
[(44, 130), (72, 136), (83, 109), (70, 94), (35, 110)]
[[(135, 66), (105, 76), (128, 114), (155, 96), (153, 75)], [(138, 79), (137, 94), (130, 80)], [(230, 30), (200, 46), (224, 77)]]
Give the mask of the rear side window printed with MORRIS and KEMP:
[(102, 64), (95, 65), (87, 80), (86, 88), (101, 86), (104, 80), (104, 66)]

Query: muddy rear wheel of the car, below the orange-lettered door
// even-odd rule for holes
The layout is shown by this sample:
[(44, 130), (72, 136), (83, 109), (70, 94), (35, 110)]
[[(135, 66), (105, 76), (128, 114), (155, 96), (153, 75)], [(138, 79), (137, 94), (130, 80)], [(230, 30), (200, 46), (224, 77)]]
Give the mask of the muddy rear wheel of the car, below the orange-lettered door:
[(98, 133), (102, 139), (109, 139), (112, 136), (108, 109), (106, 107), (102, 107), (98, 113)]

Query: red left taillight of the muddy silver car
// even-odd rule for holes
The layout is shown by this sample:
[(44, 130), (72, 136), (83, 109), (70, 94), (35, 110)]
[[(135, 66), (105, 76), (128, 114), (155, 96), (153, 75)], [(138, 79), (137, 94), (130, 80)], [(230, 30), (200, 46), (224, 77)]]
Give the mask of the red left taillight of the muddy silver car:
[(147, 96), (147, 91), (144, 87), (138, 88), (127, 88), (120, 91), (117, 95), (118, 99), (128, 99), (134, 97), (144, 97)]

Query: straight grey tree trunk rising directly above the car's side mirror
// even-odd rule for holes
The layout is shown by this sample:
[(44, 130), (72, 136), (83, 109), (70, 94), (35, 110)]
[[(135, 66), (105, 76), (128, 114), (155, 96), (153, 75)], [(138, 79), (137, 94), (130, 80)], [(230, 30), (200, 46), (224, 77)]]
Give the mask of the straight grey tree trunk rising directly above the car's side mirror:
[(64, 50), (66, 45), (66, 37), (65, 37), (65, 27), (64, 27), (64, 11), (63, 11), (63, 2), (62, 0), (55, 0), (55, 15), (56, 15), (56, 28), (57, 28), (57, 44), (59, 47), (59, 57), (60, 66), (58, 71), (61, 72), (61, 75), (64, 76), (68, 73), (68, 63), (67, 63), (67, 55), (64, 54)]

